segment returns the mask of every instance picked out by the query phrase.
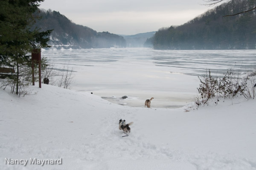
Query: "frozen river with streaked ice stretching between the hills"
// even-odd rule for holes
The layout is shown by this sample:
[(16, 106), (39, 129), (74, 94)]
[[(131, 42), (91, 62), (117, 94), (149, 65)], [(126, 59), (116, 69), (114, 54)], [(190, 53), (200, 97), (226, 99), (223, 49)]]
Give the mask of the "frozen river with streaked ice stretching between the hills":
[(256, 50), (50, 49), (41, 55), (74, 69), (71, 89), (132, 107), (151, 97), (152, 108), (182, 107), (197, 95), (198, 76), (207, 69), (218, 76), (256, 69)]

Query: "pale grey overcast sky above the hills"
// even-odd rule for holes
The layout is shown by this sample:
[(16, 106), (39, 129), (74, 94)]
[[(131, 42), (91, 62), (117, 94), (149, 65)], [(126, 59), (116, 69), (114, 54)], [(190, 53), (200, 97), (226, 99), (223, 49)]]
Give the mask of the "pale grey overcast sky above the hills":
[(181, 25), (211, 9), (204, 0), (44, 0), (39, 8), (58, 11), (97, 32), (134, 35)]

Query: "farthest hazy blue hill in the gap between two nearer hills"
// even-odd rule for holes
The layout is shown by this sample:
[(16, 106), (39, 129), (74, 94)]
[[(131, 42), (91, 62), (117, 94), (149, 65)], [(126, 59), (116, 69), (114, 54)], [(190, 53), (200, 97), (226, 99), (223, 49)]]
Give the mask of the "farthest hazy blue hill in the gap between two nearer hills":
[(145, 41), (153, 37), (156, 32), (145, 32), (136, 35), (122, 35), (126, 40), (127, 47), (143, 47)]

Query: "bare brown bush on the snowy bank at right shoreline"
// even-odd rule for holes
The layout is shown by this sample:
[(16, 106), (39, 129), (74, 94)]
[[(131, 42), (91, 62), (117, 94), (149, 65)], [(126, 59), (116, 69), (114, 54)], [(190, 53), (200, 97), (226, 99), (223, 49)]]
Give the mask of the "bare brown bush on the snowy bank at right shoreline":
[(218, 104), (220, 98), (235, 98), (239, 95), (246, 99), (255, 98), (256, 74), (253, 72), (241, 78), (239, 72), (235, 73), (230, 69), (222, 78), (218, 78), (212, 77), (209, 70), (209, 74), (203, 77), (198, 76), (198, 78), (200, 80), (197, 88), (199, 96), (194, 99), (198, 106), (209, 104), (209, 101)]

